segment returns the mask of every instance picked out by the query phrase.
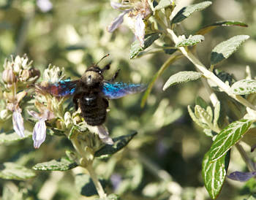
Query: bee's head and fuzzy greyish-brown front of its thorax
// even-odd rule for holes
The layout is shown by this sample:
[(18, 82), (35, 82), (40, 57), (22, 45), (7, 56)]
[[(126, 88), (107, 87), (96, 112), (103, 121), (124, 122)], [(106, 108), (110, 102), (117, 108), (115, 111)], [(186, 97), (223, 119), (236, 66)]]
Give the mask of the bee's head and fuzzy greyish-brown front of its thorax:
[(86, 83), (89, 87), (94, 85), (99, 85), (103, 80), (102, 69), (99, 69), (98, 66), (91, 66), (82, 76), (83, 82)]

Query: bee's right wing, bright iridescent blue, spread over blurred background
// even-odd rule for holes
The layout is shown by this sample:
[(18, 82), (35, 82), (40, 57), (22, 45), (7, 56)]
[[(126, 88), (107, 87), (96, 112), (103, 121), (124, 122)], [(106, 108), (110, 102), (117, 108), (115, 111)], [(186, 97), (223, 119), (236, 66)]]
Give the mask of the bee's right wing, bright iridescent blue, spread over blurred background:
[(128, 94), (140, 93), (146, 90), (144, 84), (124, 82), (104, 82), (102, 87), (103, 96), (108, 99), (118, 99)]

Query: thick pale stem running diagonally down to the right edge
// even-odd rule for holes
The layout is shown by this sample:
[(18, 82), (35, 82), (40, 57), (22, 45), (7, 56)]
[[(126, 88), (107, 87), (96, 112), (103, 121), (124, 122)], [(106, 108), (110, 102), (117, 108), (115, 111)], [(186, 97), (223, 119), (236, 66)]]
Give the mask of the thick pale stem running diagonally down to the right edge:
[[(167, 28), (167, 32), (170, 34), (171, 39), (173, 39), (173, 42), (177, 43), (178, 42), (178, 36), (171, 30), (170, 28)], [(219, 88), (222, 88), (222, 91), (227, 93), (228, 96), (231, 96), (233, 99), (236, 99), (236, 101), (240, 102), (243, 104), (245, 107), (249, 107), (253, 110), (256, 110), (256, 107), (252, 105), (249, 101), (244, 99), (243, 97), (239, 95), (235, 95), (230, 91), (230, 86), (226, 85), (225, 82), (222, 82), (213, 72), (209, 71), (206, 69), (206, 66), (204, 66), (196, 57), (193, 55), (189, 50), (186, 50), (184, 47), (178, 47), (178, 49), (183, 53), (184, 56), (186, 56), (189, 61), (192, 62), (196, 66), (199, 72), (203, 73), (203, 76), (208, 78), (209, 80), (212, 80), (215, 82)]]

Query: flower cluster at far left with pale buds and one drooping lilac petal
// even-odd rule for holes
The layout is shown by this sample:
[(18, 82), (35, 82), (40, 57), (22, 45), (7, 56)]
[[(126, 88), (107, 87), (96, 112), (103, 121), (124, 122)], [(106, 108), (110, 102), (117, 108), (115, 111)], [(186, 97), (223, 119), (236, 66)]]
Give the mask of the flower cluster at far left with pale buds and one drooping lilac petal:
[(31, 66), (29, 58), (26, 55), (23, 57), (11, 57), (10, 61), (5, 60), (4, 72), (2, 80), (4, 82), (3, 96), (7, 105), (7, 110), (12, 112), (12, 123), (15, 132), (23, 137), (24, 126), (23, 117), (21, 115), (20, 101), (26, 96), (27, 85), (34, 84), (39, 78), (40, 72)]

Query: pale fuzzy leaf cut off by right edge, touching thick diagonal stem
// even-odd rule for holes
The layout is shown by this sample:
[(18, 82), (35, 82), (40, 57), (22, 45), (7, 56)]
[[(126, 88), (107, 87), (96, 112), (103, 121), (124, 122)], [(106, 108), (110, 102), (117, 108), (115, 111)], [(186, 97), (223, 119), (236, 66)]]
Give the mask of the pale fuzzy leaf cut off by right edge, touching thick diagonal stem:
[(231, 86), (230, 90), (236, 95), (256, 93), (256, 80), (239, 80)]

